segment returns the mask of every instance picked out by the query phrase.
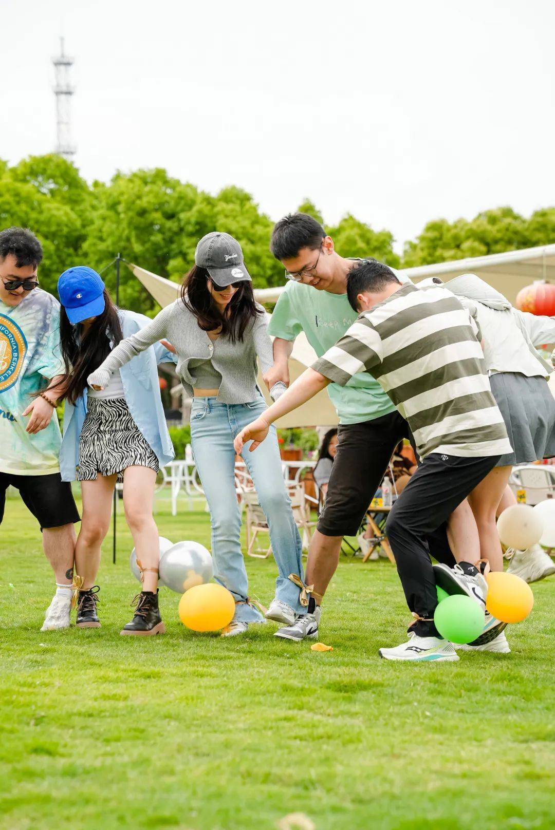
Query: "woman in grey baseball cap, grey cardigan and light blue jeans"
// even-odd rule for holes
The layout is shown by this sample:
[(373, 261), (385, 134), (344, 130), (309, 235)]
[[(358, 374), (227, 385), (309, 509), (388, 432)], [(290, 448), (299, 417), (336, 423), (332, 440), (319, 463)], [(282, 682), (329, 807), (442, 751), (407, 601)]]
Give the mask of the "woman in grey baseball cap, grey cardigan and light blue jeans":
[[(112, 373), (150, 345), (160, 339), (173, 344), (177, 374), (193, 398), (191, 440), (212, 521), (214, 578), (233, 593), (236, 603), (233, 621), (223, 631), (223, 636), (233, 637), (245, 632), (249, 623), (264, 622), (248, 596), (233, 439), (266, 409), (257, 385), (257, 358), (266, 374), (273, 365), (272, 342), (237, 240), (228, 233), (208, 233), (197, 245), (194, 262), (179, 299), (150, 325), (121, 340), (88, 381), (94, 387), (107, 386)], [(270, 390), (273, 396), (277, 392), (276, 387)], [(260, 455), (245, 452), (244, 461), (268, 520), (279, 571), (266, 617), (291, 625), (298, 614), (306, 613), (308, 600), (302, 543), (283, 481), (275, 429), (261, 450)]]

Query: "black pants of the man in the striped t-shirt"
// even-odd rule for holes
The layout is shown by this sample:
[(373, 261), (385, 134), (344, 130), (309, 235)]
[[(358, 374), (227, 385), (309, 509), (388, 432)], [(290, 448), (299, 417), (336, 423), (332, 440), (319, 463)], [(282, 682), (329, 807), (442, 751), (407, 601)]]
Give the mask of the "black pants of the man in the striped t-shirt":
[[(395, 501), (386, 524), (410, 611), (433, 619), (438, 604), (427, 537), (449, 518), (500, 456), (461, 457), (430, 453)], [(419, 637), (437, 637), (433, 622), (410, 627)]]

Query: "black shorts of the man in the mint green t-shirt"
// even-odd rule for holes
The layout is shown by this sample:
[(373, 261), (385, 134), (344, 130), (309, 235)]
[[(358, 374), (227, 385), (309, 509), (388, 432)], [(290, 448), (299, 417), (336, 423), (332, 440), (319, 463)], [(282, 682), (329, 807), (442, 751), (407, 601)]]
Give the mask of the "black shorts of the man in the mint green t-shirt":
[(325, 536), (354, 536), (409, 425), (396, 410), (362, 423), (340, 424), (332, 475), (317, 529)]

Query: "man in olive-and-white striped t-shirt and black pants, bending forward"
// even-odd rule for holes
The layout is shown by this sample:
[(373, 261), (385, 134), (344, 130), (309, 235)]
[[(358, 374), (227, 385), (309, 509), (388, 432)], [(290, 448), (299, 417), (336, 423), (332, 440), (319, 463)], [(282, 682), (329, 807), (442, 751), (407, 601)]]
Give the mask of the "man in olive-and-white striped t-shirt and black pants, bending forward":
[[(387, 266), (363, 261), (347, 277), (347, 294), (362, 314), (332, 349), (307, 369), (263, 416), (236, 439), (251, 450), (269, 424), (312, 398), (327, 383), (369, 372), (409, 422), (421, 464), (395, 502), (387, 535), (410, 611), (410, 639), (382, 648), (390, 660), (457, 660), (434, 624), (435, 576), (425, 543), (474, 487), (494, 475), (511, 452), (503, 417), (489, 388), (481, 334), (469, 312), (440, 287), (401, 285)], [(465, 573), (479, 577), (472, 564)]]

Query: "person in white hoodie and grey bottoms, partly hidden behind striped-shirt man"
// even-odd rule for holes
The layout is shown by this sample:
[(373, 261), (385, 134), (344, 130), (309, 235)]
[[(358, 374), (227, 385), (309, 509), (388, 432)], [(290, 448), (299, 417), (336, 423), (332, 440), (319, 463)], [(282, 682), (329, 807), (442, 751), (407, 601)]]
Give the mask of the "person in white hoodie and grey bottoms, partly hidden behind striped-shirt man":
[[(441, 284), (439, 277), (425, 284)], [(422, 283), (420, 283), (422, 285)], [(553, 366), (535, 348), (555, 342), (555, 320), (514, 309), (499, 291), (475, 274), (463, 274), (444, 283), (459, 298), (483, 333), (484, 360), (494, 398), (503, 414), (513, 452), (498, 461), (499, 488), (484, 486), (469, 499), (479, 538), (492, 570), (503, 569), (503, 553), (495, 533), (500, 505), (515, 503), (507, 482), (516, 464), (555, 456), (555, 398), (548, 386)], [(504, 484), (503, 484), (504, 481)], [(484, 551), (484, 540), (486, 550)], [(538, 545), (515, 551), (508, 566), (527, 582), (555, 573), (555, 564)]]

